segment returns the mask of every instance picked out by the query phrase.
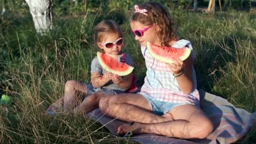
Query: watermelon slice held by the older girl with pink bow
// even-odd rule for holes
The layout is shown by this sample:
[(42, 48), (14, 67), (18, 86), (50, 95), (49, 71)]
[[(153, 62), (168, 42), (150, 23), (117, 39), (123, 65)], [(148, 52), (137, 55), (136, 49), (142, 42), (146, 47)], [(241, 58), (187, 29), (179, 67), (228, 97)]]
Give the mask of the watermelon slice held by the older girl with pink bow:
[(160, 45), (155, 45), (153, 43), (147, 42), (147, 48), (149, 53), (157, 60), (166, 63), (174, 63), (170, 58), (179, 58), (181, 61), (187, 59), (191, 53), (191, 49), (184, 48), (173, 48), (173, 47), (163, 47)]

